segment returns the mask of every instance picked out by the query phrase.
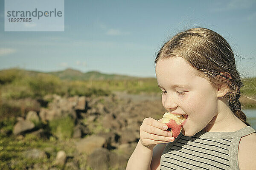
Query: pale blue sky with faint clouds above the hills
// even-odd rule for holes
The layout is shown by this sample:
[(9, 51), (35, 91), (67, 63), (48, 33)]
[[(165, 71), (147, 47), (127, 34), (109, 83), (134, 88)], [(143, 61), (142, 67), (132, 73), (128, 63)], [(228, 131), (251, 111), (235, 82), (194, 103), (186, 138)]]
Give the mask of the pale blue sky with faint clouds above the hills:
[(73, 68), (155, 77), (159, 48), (179, 31), (206, 27), (231, 45), (242, 77), (256, 77), (255, 0), (64, 1), (65, 31), (4, 31), (0, 0), (0, 70)]

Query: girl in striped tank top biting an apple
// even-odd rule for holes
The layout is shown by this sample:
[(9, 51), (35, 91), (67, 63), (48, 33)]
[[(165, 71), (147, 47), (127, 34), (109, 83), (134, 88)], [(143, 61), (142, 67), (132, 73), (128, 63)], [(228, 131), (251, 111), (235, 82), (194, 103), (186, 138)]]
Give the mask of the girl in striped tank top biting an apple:
[(145, 118), (126, 170), (256, 169), (256, 131), (239, 102), (243, 86), (232, 49), (207, 28), (166, 42), (155, 59), (163, 107), (187, 115), (180, 135)]

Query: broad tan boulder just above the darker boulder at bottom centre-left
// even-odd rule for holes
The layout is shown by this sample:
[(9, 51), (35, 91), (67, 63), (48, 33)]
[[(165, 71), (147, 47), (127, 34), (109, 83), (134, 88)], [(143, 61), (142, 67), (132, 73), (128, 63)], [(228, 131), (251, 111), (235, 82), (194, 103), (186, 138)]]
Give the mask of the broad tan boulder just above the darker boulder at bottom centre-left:
[(89, 155), (90, 153), (93, 153), (95, 149), (102, 147), (105, 143), (106, 139), (104, 137), (92, 135), (77, 142), (76, 149), (79, 153), (86, 153)]

